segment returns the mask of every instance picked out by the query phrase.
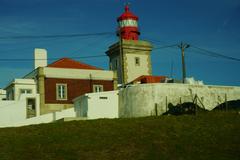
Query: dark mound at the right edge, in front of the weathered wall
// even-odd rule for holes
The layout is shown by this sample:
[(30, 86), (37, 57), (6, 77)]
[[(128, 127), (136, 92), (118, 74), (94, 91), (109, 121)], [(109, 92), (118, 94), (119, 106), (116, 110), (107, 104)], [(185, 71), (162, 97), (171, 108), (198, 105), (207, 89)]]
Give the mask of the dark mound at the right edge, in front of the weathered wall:
[(226, 101), (216, 106), (213, 111), (240, 111), (240, 100)]

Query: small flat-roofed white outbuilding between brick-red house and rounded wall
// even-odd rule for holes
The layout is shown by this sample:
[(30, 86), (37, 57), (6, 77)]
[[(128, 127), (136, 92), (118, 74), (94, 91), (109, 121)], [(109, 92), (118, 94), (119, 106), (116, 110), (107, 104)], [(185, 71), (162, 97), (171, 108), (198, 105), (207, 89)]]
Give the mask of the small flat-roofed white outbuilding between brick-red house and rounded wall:
[(118, 118), (118, 91), (89, 93), (73, 101), (77, 116), (87, 119)]

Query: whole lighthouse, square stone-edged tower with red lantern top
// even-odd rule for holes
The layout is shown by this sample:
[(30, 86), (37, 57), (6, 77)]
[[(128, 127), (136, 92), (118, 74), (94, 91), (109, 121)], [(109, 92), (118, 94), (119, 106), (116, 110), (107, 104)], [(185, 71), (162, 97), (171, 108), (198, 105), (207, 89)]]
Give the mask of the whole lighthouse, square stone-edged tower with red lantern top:
[(130, 11), (128, 5), (117, 18), (119, 41), (106, 52), (109, 69), (117, 73), (118, 84), (123, 86), (142, 75), (152, 75), (152, 44), (139, 40), (138, 16)]

